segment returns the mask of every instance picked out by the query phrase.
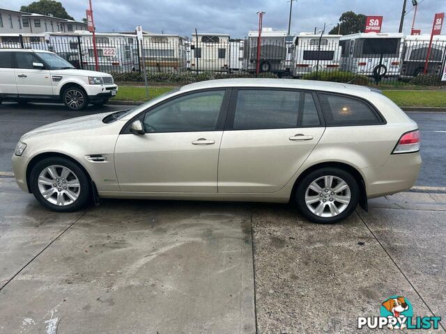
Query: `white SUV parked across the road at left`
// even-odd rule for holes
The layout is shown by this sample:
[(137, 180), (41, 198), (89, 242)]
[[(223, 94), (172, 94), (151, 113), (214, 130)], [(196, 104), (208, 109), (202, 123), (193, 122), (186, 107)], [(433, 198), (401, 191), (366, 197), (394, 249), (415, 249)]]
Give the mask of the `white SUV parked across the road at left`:
[(110, 74), (77, 70), (43, 50), (0, 49), (0, 103), (63, 102), (70, 110), (102, 105), (116, 95)]

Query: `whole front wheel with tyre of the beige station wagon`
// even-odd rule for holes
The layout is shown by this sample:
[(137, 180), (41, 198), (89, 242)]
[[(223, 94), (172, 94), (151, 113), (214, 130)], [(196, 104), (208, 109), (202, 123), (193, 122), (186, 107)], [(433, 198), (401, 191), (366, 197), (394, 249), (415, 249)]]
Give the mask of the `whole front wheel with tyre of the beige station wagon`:
[(72, 212), (91, 197), (89, 178), (74, 162), (61, 157), (39, 161), (30, 174), (31, 192), (48, 209)]

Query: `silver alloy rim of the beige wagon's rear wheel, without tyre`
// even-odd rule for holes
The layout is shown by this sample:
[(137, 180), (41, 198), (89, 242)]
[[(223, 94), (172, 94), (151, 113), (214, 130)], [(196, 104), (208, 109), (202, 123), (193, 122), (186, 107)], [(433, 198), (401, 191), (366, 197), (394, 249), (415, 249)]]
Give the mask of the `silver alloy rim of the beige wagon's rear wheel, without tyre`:
[(351, 190), (341, 177), (324, 175), (309, 184), (305, 204), (310, 212), (320, 217), (334, 217), (348, 207)]

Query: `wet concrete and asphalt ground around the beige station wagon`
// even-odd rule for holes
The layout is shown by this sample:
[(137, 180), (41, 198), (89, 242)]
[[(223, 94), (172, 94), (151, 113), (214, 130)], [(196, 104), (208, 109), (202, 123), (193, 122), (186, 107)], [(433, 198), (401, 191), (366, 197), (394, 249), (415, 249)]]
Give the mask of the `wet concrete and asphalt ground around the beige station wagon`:
[(56, 214), (17, 188), (24, 132), (119, 109), (0, 106), (0, 333), (357, 333), (392, 295), (445, 316), (445, 113), (410, 113), (417, 184), (439, 193), (371, 200), (337, 225), (256, 203), (104, 200)]

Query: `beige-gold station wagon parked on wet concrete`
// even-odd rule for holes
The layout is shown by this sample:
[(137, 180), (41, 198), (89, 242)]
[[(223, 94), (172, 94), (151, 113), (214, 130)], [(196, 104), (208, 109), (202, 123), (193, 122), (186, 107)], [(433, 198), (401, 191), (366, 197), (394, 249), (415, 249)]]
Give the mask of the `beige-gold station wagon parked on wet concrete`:
[(369, 88), (225, 79), (35, 129), (13, 170), (59, 212), (98, 197), (291, 201), (334, 223), (413, 186), (419, 150), (417, 124)]

